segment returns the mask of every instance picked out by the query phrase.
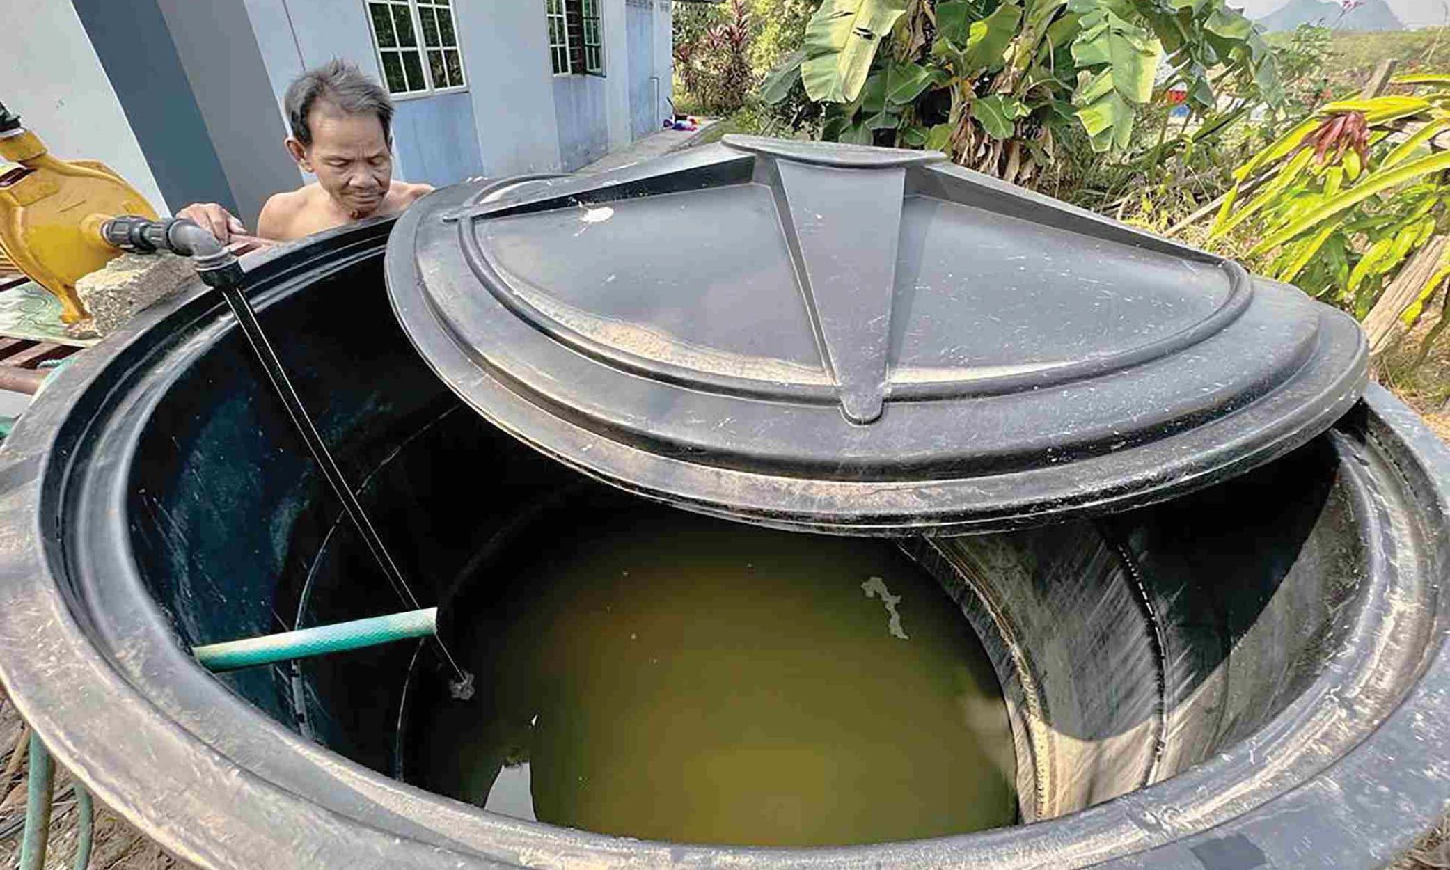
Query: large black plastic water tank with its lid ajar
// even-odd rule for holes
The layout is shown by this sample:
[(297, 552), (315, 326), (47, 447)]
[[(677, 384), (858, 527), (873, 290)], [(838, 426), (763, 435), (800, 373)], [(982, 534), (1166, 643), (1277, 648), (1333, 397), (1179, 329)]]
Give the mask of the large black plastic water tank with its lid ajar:
[[(767, 383), (741, 390), (734, 383), (702, 380), (700, 355), (690, 357), (695, 374), (677, 377), (680, 371), (664, 367), (674, 357), (621, 361), (618, 347), (590, 345), (581, 334), (561, 329), (558, 318), (541, 320), (528, 309), (508, 307), (509, 293), (523, 287), (516, 268), (508, 283), (467, 284), (481, 280), (471, 265), (439, 271), (436, 260), (422, 258), (418, 262), (426, 286), (409, 281), (406, 271), (400, 283), (400, 270), (415, 267), (410, 242), (400, 248), (407, 255), (399, 255), (399, 248), (390, 252), (392, 304), (400, 309), (405, 334), (389, 310), (383, 278), (383, 249), (394, 231), (387, 220), (262, 257), (249, 270), (251, 296), (393, 555), (418, 579), (420, 597), (444, 603), (445, 610), (455, 593), (454, 580), (467, 576), (480, 547), (547, 513), (541, 505), (552, 493), (594, 486), (589, 477), (750, 522), (902, 535), (902, 548), (960, 603), (992, 657), (1009, 702), (1021, 815), (1032, 824), (819, 850), (642, 842), (561, 829), (492, 815), (394, 779), (406, 744), (426, 738), (426, 722), (407, 716), (409, 686), (428, 679), (412, 645), (312, 660), (296, 668), (222, 677), (206, 673), (187, 652), (194, 644), (374, 615), (394, 609), (396, 600), (318, 478), (235, 322), (200, 289), (145, 312), (55, 376), (6, 441), (0, 676), (10, 696), (58, 760), (102, 800), (180, 857), (215, 869), (1247, 870), (1318, 869), (1330, 858), (1337, 867), (1367, 869), (1392, 860), (1450, 800), (1441, 716), (1450, 687), (1441, 658), (1450, 626), (1441, 594), (1450, 555), (1450, 454), (1383, 390), (1370, 387), (1354, 400), (1363, 377), (1357, 336), (1344, 329), (1338, 315), (1306, 304), (1289, 289), (1247, 280), (1228, 264), (1095, 218), (1053, 212), (1043, 200), (1027, 197), (1021, 200), (1025, 204), (1012, 206), (1016, 200), (1008, 188), (921, 162), (919, 155), (900, 165), (899, 155), (871, 154), (850, 158), (870, 164), (866, 167), (824, 168), (900, 170), (902, 184), (915, 186), (902, 187), (902, 215), (915, 209), (956, 215), (953, 209), (963, 209), (956, 216), (979, 233), (1018, 226), (1021, 232), (989, 248), (1011, 257), (1040, 255), (1047, 242), (1024, 251), (1012, 248), (1012, 239), (1045, 233), (1061, 245), (1080, 244), (1089, 251), (1098, 245), (1095, 257), (1108, 261), (1150, 262), (1159, 274), (1205, 281), (1199, 290), (1208, 302), (1192, 293), (1174, 297), (1172, 281), (1150, 281), (1141, 296), (1137, 290), (1131, 294), (1134, 302), (1151, 297), (1163, 303), (1147, 309), (1153, 316), (1137, 307), (1125, 312), (1125, 334), (1138, 331), (1148, 347), (1164, 347), (1153, 344), (1164, 331), (1190, 331), (1190, 339), (1201, 338), (1198, 345), (1174, 338), (1180, 347), (1170, 351), (1237, 341), (1235, 329), (1264, 316), (1260, 334), (1273, 334), (1279, 323), (1279, 335), (1296, 336), (1290, 342), (1293, 361), (1277, 357), (1277, 344), (1256, 348), (1251, 341), (1235, 345), (1232, 360), (1201, 354), (1202, 365), (1225, 374), (1259, 374), (1225, 381), (1225, 394), (1232, 399), (1206, 402), (1198, 412), (1190, 396), (1128, 390), (1121, 400), (1151, 396), (1176, 409), (1164, 419), (1177, 423), (1148, 425), (1121, 447), (1070, 439), (1089, 447), (1070, 452), (1064, 463), (1014, 455), (998, 465), (996, 458), (983, 458), (986, 454), (969, 455), (972, 441), (947, 432), (940, 441), (944, 450), (928, 450), (922, 461), (900, 464), (902, 474), (887, 468), (889, 476), (909, 483), (890, 487), (876, 478), (882, 473), (858, 473), (851, 464), (826, 473), (829, 463), (809, 454), (828, 441), (812, 445), (809, 438), (800, 439), (795, 445), (799, 463), (776, 461), (779, 451), (751, 454), (745, 450), (750, 439), (689, 450), (705, 436), (670, 439), (655, 436), (650, 426), (642, 435), (625, 436), (629, 426), (605, 425), (597, 415), (583, 413), (589, 389), (605, 390), (590, 387), (594, 381), (583, 376), (577, 383), (557, 383), (567, 402), (545, 400), (539, 386), (560, 381), (557, 365), (571, 355), (580, 371), (603, 378), (600, 383), (634, 378), (654, 390), (650, 394), (670, 397), (655, 407), (644, 406), (661, 420), (692, 425), (690, 416), (671, 413), (695, 396), (731, 407), (754, 402), (792, 418), (812, 418), (816, 431), (826, 432), (822, 438), (857, 438), (856, 444), (870, 451), (884, 450), (871, 442), (877, 432), (889, 432), (880, 426), (893, 416), (925, 419), (931, 402), (956, 409), (942, 413), (960, 415), (976, 426), (970, 432), (982, 434), (998, 425), (996, 418), (973, 415), (972, 407), (995, 407), (992, 402), (1012, 396), (1048, 407), (1054, 392), (1066, 394), (1080, 384), (1112, 392), (1140, 367), (1161, 364), (1176, 377), (1190, 377), (1193, 361), (1183, 352), (1141, 360), (1096, 354), (1108, 345), (1114, 352), (1131, 345), (1128, 339), (1109, 341), (1114, 334), (1108, 326), (1119, 322), (1112, 319), (1098, 331), (1058, 325), (1058, 335), (1076, 335), (1073, 341), (1088, 348), (1064, 364), (1088, 365), (1070, 370), (1076, 376), (1051, 387), (1034, 390), (1031, 383), (1012, 380), (1019, 373), (992, 381), (1003, 374), (996, 371), (983, 376), (995, 387), (982, 394), (969, 387), (932, 397), (884, 387), (899, 378), (853, 380), (845, 373), (848, 364), (832, 362), (822, 389), (809, 396), (763, 396), (761, 390), (774, 387)], [(773, 190), (771, 173), (779, 173), (780, 161), (821, 168), (818, 158), (750, 142), (673, 160), (577, 183), (450, 188), (423, 200), (399, 229), (420, 238), (423, 218), (432, 215), (436, 222), (428, 232), (452, 233), (454, 239), (464, 232), (463, 245), (451, 248), (460, 252), (467, 251), (471, 233), (481, 239), (477, 262), (487, 264), (492, 254), (483, 245), (503, 238), (499, 233), (508, 220), (555, 220), (561, 232), (592, 239), (589, 233), (615, 220), (626, 226), (631, 209), (641, 215), (657, 210), (668, 196), (680, 202), (696, 196), (758, 199), (760, 191)], [(703, 180), (693, 171), (663, 171), (706, 164), (716, 168)], [(768, 193), (753, 207), (767, 216), (768, 209), (776, 215), (790, 210), (793, 171), (786, 170), (783, 199)], [(953, 204), (927, 186), (932, 174), (957, 180), (983, 199)], [(674, 177), (677, 190), (651, 187), (660, 177)], [(586, 190), (609, 193), (593, 199)], [(908, 202), (911, 197), (918, 199)], [(605, 207), (613, 210), (608, 219), (597, 213)], [(492, 209), (515, 212), (509, 216)], [(1014, 209), (1025, 212), (1005, 213)], [(819, 213), (826, 220), (826, 212)], [(915, 238), (908, 232), (911, 220), (902, 220), (902, 238)], [(515, 226), (528, 226), (528, 220)], [(505, 229), (496, 233), (492, 228)], [(679, 226), (660, 229), (667, 231), (689, 236), (709, 228), (682, 219)], [(790, 226), (779, 223), (776, 232), (784, 239), (780, 244), (789, 262), (796, 262)], [(724, 235), (721, 245), (734, 238)], [(561, 241), (555, 238), (555, 246)], [(606, 246), (600, 255), (612, 249)], [(642, 241), (631, 249), (639, 257), (654, 251)], [(770, 255), (779, 254), (780, 248), (766, 251), (764, 242), (745, 251), (726, 245), (721, 268), (751, 257), (766, 268)], [(1183, 267), (1174, 257), (1196, 265)], [(800, 252), (799, 260), (808, 273), (813, 268), (812, 255)], [(909, 262), (898, 251), (898, 278), (900, 265)], [(960, 262), (963, 270), (999, 270), (982, 252), (963, 254)], [(586, 271), (579, 265), (557, 268)], [(1090, 258), (1083, 255), (1060, 271), (1082, 276), (1088, 265)], [(1131, 283), (1125, 270), (1109, 277)], [(679, 265), (679, 271), (687, 268)], [(639, 297), (638, 287), (652, 274), (632, 276), (632, 297)], [(609, 270), (597, 273), (599, 281), (612, 284), (609, 276)], [(782, 278), (809, 280), (809, 274), (786, 273)], [(661, 280), (676, 281), (676, 273)], [(567, 281), (531, 284), (555, 300), (577, 289)], [(792, 286), (802, 306), (815, 299), (800, 296), (799, 283)], [(982, 284), (964, 286), (982, 290)], [(489, 306), (486, 316), (450, 319), (450, 304), (463, 297)], [(1043, 309), (1043, 297), (1037, 299), (1035, 307)], [(916, 302), (903, 303), (898, 293), (890, 303), (893, 320), (900, 310), (896, 306), (915, 310)], [(419, 307), (410, 310), (409, 304)], [(992, 312), (990, 304), (986, 294), (987, 307), (972, 310)], [(1183, 313), (1173, 320), (1169, 312), (1177, 306)], [(1269, 306), (1277, 316), (1256, 313), (1256, 306)], [(1221, 313), (1225, 307), (1228, 313)], [(590, 313), (581, 304), (574, 309)], [(657, 306), (650, 313), (661, 312)], [(429, 320), (423, 315), (432, 318), (436, 334), (425, 328)], [(1000, 312), (992, 316), (1000, 318)], [(805, 316), (812, 334), (818, 318), (819, 310)], [(869, 320), (842, 322), (864, 326)], [(1205, 320), (1214, 329), (1192, 332)], [(579, 322), (584, 320), (563, 325)], [(668, 338), (658, 319), (650, 322)], [(1176, 331), (1163, 326), (1173, 322), (1180, 323)], [(484, 325), (528, 329), (545, 344), (529, 347), (535, 357), (521, 351), (502, 360), (518, 345), (463, 335)], [(680, 328), (687, 326), (695, 323)], [(900, 357), (893, 355), (899, 344), (889, 342), (874, 355), (853, 355), (861, 348), (835, 354), (832, 339), (821, 338), (824, 332), (815, 345), (818, 354), (825, 347), (832, 360), (874, 360), (869, 367), (873, 373), (877, 364), (883, 374), (900, 368)], [(606, 331), (593, 338), (613, 335)], [(450, 344), (442, 344), (445, 339)], [(426, 362), (412, 342), (423, 348)], [(702, 341), (686, 349), (710, 357), (722, 348)], [(1092, 361), (1102, 358), (1111, 365), (1096, 368)], [(523, 370), (509, 365), (521, 360), (550, 362), (519, 377)], [(873, 384), (879, 415), (870, 397)], [(1296, 384), (1317, 387), (1301, 390)], [(1264, 412), (1264, 403), (1276, 397), (1280, 413)], [(628, 399), (621, 393), (624, 407), (629, 407)], [(1179, 399), (1186, 405), (1177, 405)], [(1090, 410), (1092, 403), (1085, 407)], [(1043, 413), (1041, 419), (1054, 419)], [(1244, 416), (1237, 418), (1240, 413)], [(1257, 423), (1238, 426), (1244, 419)], [(1292, 423), (1276, 426), (1277, 419)], [(829, 435), (832, 426), (845, 435)], [(580, 439), (561, 439), (570, 431)], [(1209, 450), (1212, 439), (1192, 438), (1215, 431), (1250, 436), (1228, 439), (1228, 452)], [(615, 463), (616, 454), (594, 464), (587, 458), (593, 448), (583, 450), (589, 444), (638, 451), (644, 460), (632, 468)], [(1080, 473), (1083, 481), (1096, 480), (1089, 473), (1103, 465), (1095, 463), (1150, 457), (1164, 445), (1172, 450), (1154, 461), (1172, 464), (1186, 457), (1180, 467), (1196, 474), (1182, 480), (1127, 474), (1119, 477), (1121, 490), (1102, 493), (1108, 500), (1050, 487), (1041, 490), (1041, 499), (1016, 505), (958, 497), (977, 492), (973, 487), (1009, 493), (992, 490), (1002, 484), (999, 477), (1048, 474), (1057, 464)], [(937, 463), (947, 455), (958, 458)], [(661, 477), (658, 468), (671, 464), (689, 473)], [(1150, 460), (1138, 464), (1151, 470)], [(953, 477), (957, 471), (970, 474)], [(776, 490), (751, 490), (750, 499), (734, 502), (722, 490), (695, 486), (729, 474), (787, 484), (803, 480), (809, 486), (802, 492), (816, 492), (813, 487), (824, 483), (886, 494), (880, 509), (874, 502), (841, 509), (829, 499), (786, 503), (776, 499)], [(660, 486), (671, 480), (690, 487)], [(914, 523), (918, 513), (902, 509), (899, 499), (914, 487), (940, 493), (932, 487), (963, 480), (974, 483), (948, 486), (954, 499), (921, 500), (924, 513), (937, 512), (931, 522)], [(1177, 497), (1160, 500), (1169, 493)], [(1077, 513), (1069, 516), (1051, 505)], [(942, 534), (953, 525), (998, 528), (1044, 515), (1058, 522), (1000, 534)], [(935, 534), (903, 531), (912, 525)]]

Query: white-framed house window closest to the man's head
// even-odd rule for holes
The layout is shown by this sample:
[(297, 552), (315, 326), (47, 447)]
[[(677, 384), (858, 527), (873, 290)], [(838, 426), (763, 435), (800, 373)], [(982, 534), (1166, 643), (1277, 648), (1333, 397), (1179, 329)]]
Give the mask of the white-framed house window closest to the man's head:
[(390, 94), (464, 86), (450, 0), (367, 0), (367, 10)]

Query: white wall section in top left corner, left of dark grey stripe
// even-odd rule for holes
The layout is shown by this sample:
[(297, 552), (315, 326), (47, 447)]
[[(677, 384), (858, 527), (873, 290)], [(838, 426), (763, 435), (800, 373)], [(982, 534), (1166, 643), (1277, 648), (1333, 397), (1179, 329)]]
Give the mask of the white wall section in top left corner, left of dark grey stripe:
[(99, 160), (161, 210), (141, 144), (70, 0), (30, 0), (0, 28), (4, 103), (62, 158)]

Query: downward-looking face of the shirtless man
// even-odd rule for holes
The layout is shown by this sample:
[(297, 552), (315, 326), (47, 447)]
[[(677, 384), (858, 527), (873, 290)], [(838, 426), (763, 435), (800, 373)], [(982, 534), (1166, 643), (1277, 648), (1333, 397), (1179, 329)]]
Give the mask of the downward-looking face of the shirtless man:
[(307, 122), (312, 146), (300, 149), (296, 139), (289, 141), (294, 155), (302, 151), (302, 168), (316, 175), (354, 220), (376, 212), (393, 175), (383, 123), (376, 115), (348, 115), (325, 102), (313, 106)]

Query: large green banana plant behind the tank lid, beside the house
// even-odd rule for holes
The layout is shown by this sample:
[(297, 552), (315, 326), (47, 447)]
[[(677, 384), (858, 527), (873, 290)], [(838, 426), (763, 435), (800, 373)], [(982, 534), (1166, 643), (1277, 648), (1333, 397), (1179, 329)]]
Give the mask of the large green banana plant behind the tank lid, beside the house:
[(1025, 184), (1073, 126), (1093, 151), (1127, 148), (1140, 107), (1177, 83), (1205, 116), (1225, 88), (1282, 100), (1272, 52), (1225, 0), (825, 0), (761, 97), (798, 81), (825, 139), (940, 149)]

